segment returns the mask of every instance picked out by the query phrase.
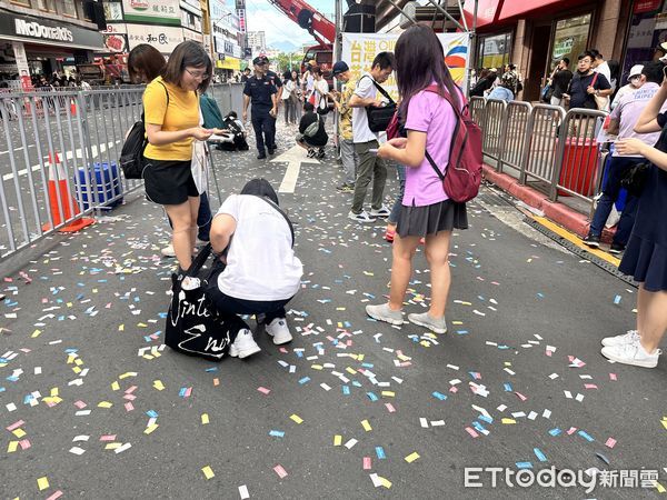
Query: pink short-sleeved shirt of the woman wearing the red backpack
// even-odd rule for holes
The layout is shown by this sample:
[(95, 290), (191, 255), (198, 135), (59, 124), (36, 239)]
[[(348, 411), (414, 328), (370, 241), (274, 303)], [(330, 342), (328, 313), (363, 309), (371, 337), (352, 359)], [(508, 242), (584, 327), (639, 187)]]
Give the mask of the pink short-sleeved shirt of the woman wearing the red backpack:
[[(456, 113), (449, 102), (435, 92), (417, 92), (408, 104), (406, 130), (426, 132), (426, 150), (445, 173), (456, 127)], [(447, 200), (442, 181), (425, 158), (419, 167), (406, 167), (402, 204), (426, 207)]]

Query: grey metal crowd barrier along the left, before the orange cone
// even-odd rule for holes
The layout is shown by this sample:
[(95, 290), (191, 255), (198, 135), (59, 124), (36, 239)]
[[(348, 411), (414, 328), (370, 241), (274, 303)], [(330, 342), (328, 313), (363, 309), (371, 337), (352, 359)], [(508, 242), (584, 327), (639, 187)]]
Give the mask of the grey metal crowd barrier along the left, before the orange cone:
[[(223, 113), (240, 114), (242, 84), (209, 91)], [(142, 94), (142, 86), (0, 93), (0, 262), (142, 187), (119, 164)]]

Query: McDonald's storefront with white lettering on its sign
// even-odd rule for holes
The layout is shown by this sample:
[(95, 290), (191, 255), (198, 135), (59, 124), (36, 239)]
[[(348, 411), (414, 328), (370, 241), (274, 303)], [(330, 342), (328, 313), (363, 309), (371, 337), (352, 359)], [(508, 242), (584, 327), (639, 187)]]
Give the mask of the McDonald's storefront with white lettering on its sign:
[(0, 81), (30, 87), (34, 78), (74, 74), (102, 50), (103, 12), (83, 0), (0, 0)]

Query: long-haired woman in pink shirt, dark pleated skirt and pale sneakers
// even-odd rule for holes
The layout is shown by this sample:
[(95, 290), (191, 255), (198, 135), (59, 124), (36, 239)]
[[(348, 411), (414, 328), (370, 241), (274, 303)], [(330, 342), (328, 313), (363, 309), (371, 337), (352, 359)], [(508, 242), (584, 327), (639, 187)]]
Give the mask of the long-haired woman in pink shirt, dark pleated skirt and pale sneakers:
[[(396, 43), (396, 78), (401, 98), (399, 116), (407, 138), (382, 144), (380, 158), (406, 166), (406, 189), (391, 263), (389, 302), (367, 306), (371, 318), (391, 324), (401, 324), (402, 302), (412, 273), (412, 256), (420, 238), (426, 239), (426, 259), (431, 277), (431, 300), (428, 312), (408, 314), (415, 324), (436, 333), (447, 332), (445, 307), (449, 293), (449, 242), (454, 229), (467, 229), (466, 204), (451, 201), (442, 181), (426, 159), (426, 151), (445, 173), (457, 118), (442, 93), (449, 93), (457, 106), (464, 104), (445, 64), (442, 46), (436, 33), (426, 26), (406, 30)], [(437, 84), (438, 92), (426, 88)]]

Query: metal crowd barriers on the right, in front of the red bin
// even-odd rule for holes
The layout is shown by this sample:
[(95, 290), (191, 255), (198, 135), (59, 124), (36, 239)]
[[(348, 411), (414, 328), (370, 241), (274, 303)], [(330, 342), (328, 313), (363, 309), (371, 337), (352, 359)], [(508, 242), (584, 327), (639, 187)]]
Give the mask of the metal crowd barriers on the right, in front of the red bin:
[(590, 203), (599, 192), (605, 152), (596, 141), (605, 111), (470, 99), (482, 130), (482, 152), (519, 183), (531, 182), (551, 201), (568, 196)]

